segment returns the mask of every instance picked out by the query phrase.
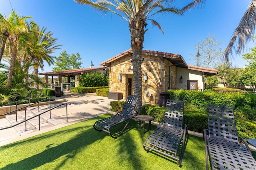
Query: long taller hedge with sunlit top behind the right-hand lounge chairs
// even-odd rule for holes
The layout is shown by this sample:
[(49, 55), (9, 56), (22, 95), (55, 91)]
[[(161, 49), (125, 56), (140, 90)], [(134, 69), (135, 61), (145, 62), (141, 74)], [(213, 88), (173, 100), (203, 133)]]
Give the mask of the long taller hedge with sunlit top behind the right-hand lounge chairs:
[[(170, 99), (184, 100), (202, 113), (206, 113), (207, 104), (233, 106), (240, 118), (256, 121), (256, 94), (254, 93), (218, 93), (196, 90), (168, 90)], [(241, 116), (242, 115), (242, 116)]]

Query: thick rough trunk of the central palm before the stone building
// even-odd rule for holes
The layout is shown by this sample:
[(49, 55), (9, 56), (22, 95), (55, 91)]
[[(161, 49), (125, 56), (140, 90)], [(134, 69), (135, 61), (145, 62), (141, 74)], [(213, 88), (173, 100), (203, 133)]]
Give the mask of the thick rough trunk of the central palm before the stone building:
[(131, 47), (132, 47), (132, 60), (133, 60), (133, 90), (134, 95), (139, 96), (136, 105), (136, 110), (140, 111), (142, 107), (142, 71), (141, 59), (142, 48), (144, 42), (144, 26), (145, 22), (142, 19), (134, 18), (130, 23)]

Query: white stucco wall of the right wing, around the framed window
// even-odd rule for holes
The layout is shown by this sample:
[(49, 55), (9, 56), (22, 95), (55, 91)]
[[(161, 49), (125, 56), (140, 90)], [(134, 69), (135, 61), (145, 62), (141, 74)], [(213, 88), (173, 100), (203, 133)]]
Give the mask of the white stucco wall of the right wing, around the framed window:
[[(198, 89), (204, 89), (204, 75), (201, 71), (189, 70), (187, 68), (177, 67), (177, 85), (178, 89), (186, 89), (187, 88), (187, 80), (197, 80), (198, 81)], [(183, 78), (183, 82), (180, 82), (180, 76)]]

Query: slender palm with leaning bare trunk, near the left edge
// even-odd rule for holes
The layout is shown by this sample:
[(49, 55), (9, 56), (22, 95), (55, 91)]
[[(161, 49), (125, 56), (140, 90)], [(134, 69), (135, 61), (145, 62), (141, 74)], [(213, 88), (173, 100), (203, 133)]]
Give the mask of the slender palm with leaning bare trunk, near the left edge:
[(20, 17), (18, 14), (13, 11), (9, 18), (6, 19), (2, 15), (0, 15), (0, 20), (4, 25), (4, 29), (8, 32), (8, 43), (10, 45), (11, 51), (11, 62), (10, 62), (10, 70), (8, 72), (8, 80), (6, 83), (6, 88), (8, 88), (12, 81), (12, 73), (14, 70), (16, 55), (19, 48), (19, 40), (20, 36), (26, 32), (28, 32), (28, 27), (26, 25), (26, 20), (32, 17)]

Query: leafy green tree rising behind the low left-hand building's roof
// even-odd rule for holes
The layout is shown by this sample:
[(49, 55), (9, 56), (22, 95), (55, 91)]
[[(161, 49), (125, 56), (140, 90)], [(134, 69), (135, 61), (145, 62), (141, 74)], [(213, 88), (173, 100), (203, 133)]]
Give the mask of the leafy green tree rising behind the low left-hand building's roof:
[(81, 60), (82, 58), (79, 53), (69, 55), (66, 51), (63, 51), (60, 53), (57, 61), (54, 62), (56, 67), (53, 67), (52, 71), (78, 69), (82, 65)]

